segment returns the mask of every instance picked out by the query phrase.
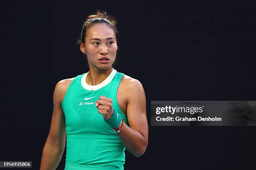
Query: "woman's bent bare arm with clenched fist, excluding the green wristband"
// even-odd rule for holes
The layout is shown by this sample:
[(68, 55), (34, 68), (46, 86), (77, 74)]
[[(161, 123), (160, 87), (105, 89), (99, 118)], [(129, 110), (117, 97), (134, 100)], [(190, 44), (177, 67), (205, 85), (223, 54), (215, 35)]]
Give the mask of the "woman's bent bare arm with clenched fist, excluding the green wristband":
[[(126, 115), (130, 127), (123, 123), (118, 135), (125, 148), (134, 156), (140, 157), (145, 153), (148, 146), (146, 96), (141, 82), (138, 80), (132, 78), (126, 79), (124, 88), (124, 95), (127, 101)], [(112, 100), (108, 97), (100, 96), (99, 100), (96, 100), (95, 106), (98, 108), (98, 112), (103, 115), (103, 119), (109, 121), (113, 115)]]

